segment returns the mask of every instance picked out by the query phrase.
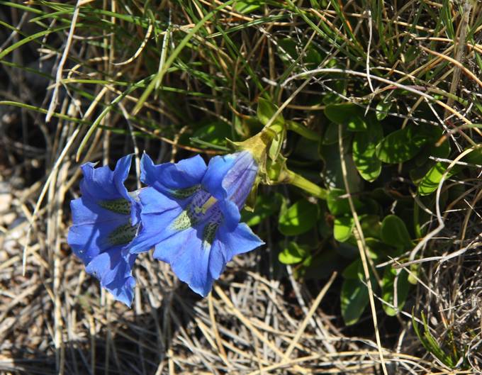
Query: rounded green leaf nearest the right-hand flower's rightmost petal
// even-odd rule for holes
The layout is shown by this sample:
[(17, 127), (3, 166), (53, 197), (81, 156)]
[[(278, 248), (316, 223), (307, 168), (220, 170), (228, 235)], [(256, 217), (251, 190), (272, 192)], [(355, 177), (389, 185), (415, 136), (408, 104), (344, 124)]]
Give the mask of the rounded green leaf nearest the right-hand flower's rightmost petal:
[(317, 218), (318, 206), (301, 199), (281, 214), (278, 229), (284, 235), (301, 235), (313, 228)]

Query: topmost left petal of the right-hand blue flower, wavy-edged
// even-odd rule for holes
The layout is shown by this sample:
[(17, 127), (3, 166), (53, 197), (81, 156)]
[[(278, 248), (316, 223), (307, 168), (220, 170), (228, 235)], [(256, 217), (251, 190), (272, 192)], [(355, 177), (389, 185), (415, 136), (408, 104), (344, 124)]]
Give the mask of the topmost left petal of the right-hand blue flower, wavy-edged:
[(155, 165), (149, 155), (144, 154), (140, 164), (141, 181), (164, 193), (198, 185), (206, 172), (206, 163), (199, 155), (177, 163)]

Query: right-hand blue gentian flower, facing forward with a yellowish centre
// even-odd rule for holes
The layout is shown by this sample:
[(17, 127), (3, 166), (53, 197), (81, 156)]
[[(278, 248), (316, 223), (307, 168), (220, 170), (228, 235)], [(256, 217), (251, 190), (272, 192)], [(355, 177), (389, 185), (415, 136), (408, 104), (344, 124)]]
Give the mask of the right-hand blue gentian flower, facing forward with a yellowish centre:
[(250, 152), (216, 156), (206, 167), (200, 156), (155, 165), (141, 160), (142, 229), (132, 252), (155, 246), (154, 257), (171, 264), (181, 281), (207, 296), (236, 254), (264, 242), (245, 223), (240, 209), (257, 176)]

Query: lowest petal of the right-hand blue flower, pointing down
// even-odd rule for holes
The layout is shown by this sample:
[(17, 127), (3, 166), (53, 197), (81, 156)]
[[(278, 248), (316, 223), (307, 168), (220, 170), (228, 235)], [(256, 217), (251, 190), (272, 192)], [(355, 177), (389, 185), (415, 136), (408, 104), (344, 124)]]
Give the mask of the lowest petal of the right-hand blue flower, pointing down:
[(213, 286), (209, 272), (210, 246), (204, 247), (203, 240), (194, 228), (174, 233), (159, 242), (154, 257), (171, 264), (174, 274), (201, 296), (206, 297)]

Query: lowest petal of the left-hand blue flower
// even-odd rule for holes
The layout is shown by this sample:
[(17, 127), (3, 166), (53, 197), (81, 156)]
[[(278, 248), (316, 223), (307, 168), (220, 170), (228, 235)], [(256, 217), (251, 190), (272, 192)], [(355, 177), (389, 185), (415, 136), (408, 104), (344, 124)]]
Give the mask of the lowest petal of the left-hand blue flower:
[(132, 267), (135, 257), (137, 255), (128, 254), (122, 247), (113, 247), (92, 259), (86, 272), (99, 279), (101, 286), (111, 292), (117, 301), (130, 307), (134, 298)]

